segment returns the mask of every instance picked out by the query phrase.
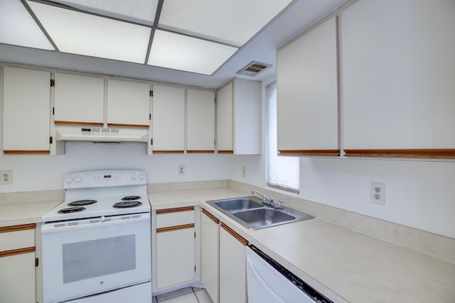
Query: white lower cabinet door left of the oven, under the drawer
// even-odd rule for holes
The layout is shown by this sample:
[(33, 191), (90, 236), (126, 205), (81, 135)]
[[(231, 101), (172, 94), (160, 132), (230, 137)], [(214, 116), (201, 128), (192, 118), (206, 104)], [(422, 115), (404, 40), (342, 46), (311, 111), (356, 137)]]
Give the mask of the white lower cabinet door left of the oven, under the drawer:
[(1, 302), (34, 303), (35, 300), (35, 253), (21, 253), (1, 257)]

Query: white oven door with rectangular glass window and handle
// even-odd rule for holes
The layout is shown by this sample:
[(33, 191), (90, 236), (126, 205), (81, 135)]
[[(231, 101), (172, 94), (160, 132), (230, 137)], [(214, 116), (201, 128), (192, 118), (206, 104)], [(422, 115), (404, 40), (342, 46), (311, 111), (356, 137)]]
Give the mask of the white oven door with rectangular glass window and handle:
[(43, 224), (44, 302), (149, 282), (150, 230), (149, 213)]

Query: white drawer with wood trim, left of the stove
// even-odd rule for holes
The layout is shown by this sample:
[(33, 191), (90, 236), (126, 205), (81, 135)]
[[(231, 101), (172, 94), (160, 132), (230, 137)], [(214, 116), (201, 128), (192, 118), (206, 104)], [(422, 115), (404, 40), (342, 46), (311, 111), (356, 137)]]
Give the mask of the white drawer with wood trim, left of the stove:
[(35, 224), (0, 227), (0, 251), (35, 246)]

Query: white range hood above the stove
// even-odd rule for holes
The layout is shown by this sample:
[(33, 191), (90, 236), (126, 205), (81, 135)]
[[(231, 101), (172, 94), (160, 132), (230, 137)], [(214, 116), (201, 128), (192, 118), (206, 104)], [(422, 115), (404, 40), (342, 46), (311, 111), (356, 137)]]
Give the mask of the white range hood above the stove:
[(147, 142), (149, 128), (55, 126), (57, 141)]

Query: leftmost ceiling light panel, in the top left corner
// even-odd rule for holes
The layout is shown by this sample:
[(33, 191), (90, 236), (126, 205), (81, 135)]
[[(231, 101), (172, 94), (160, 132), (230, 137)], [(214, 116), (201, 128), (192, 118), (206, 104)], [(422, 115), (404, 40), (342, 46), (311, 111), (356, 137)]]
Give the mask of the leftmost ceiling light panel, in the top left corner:
[(0, 1), (0, 43), (54, 50), (19, 0)]

